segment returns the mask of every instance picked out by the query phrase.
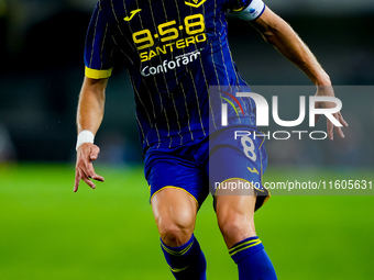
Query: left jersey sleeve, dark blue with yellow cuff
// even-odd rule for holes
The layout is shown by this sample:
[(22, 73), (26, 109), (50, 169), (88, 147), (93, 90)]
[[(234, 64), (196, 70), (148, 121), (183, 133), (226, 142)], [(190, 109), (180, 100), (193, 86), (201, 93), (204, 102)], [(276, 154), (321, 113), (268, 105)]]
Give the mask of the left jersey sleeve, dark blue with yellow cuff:
[(113, 51), (114, 43), (109, 24), (98, 4), (92, 13), (86, 35), (86, 77), (92, 79), (109, 78), (112, 72)]

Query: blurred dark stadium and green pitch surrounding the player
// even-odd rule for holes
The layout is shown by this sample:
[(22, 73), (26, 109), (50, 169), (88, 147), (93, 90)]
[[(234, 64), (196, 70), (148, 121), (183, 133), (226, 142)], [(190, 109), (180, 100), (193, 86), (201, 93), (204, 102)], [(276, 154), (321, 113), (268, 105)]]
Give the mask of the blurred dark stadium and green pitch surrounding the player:
[[(270, 141), (265, 180), (374, 180), (374, 92), (367, 87), (374, 85), (374, 2), (265, 2), (298, 32), (334, 85), (360, 86), (337, 89), (351, 124), (346, 139)], [(95, 192), (81, 186), (72, 193), (75, 111), (95, 3), (0, 0), (0, 279), (172, 279), (147, 203), (133, 93), (120, 65), (97, 136), (97, 171), (107, 181)], [(249, 83), (310, 85), (253, 29), (231, 21), (229, 35)], [(282, 99), (297, 107), (295, 96)], [(287, 117), (298, 113), (286, 111)], [(235, 279), (210, 202), (197, 225), (208, 277)], [(272, 198), (256, 224), (279, 279), (373, 279), (372, 203), (373, 197)]]

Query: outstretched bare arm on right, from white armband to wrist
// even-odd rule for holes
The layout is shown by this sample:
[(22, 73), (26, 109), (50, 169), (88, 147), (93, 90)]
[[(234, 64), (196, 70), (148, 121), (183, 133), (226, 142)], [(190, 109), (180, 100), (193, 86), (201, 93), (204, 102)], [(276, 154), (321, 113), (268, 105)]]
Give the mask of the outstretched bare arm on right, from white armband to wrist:
[(308, 46), (295, 31), (268, 8), (266, 13), (253, 25), (262, 33), (266, 42), (300, 68), (317, 86), (330, 86), (327, 72), (318, 63)]

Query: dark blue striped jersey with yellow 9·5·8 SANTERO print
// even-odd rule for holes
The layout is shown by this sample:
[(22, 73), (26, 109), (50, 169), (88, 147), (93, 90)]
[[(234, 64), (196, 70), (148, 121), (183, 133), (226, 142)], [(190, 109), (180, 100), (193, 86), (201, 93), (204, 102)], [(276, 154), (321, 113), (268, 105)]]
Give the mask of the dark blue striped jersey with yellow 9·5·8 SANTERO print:
[[(121, 59), (136, 101), (143, 148), (175, 147), (220, 127), (209, 87), (246, 86), (228, 42), (226, 15), (252, 0), (101, 0), (88, 29), (89, 78), (108, 78)], [(255, 126), (254, 102), (243, 102)], [(210, 130), (211, 131), (211, 130)]]

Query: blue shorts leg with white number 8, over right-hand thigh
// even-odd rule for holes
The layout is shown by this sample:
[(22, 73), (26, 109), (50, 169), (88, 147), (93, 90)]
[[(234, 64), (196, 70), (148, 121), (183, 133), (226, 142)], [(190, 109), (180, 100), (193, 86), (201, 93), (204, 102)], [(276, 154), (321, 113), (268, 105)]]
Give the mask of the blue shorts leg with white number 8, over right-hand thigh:
[(264, 138), (235, 138), (237, 130), (227, 130), (210, 142), (211, 193), (215, 197), (218, 191), (221, 195), (256, 195), (254, 209), (257, 210), (268, 199), (268, 191), (262, 183), (267, 165)]

